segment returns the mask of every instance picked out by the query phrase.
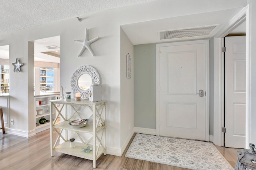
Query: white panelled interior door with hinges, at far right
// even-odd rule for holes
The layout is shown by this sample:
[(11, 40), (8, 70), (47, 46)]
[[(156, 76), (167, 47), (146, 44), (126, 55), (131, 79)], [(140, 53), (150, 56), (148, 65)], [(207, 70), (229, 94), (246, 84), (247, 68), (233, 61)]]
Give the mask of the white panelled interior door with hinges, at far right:
[(225, 38), (225, 146), (245, 148), (245, 36)]

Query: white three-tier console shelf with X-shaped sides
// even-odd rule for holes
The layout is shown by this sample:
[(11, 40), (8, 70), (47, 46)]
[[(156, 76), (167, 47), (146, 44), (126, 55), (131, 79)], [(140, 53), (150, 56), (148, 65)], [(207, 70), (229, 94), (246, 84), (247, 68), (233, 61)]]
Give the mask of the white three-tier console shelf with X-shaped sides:
[[(96, 168), (96, 160), (102, 154), (106, 155), (106, 101), (90, 102), (88, 99), (81, 101), (68, 99), (66, 101), (52, 100), (50, 103), (50, 118), (54, 118), (54, 110), (56, 110), (56, 117), (61, 117), (60, 122), (57, 122), (57, 119), (51, 121), (51, 156), (54, 156), (54, 151), (77, 156), (92, 160), (93, 167)], [(57, 105), (60, 107), (58, 108)], [(68, 124), (76, 119), (90, 119), (90, 123), (81, 128)], [(54, 130), (58, 133), (55, 141)], [(74, 148), (70, 148), (70, 138), (75, 138)], [(81, 152), (88, 145), (93, 150), (88, 153)]]

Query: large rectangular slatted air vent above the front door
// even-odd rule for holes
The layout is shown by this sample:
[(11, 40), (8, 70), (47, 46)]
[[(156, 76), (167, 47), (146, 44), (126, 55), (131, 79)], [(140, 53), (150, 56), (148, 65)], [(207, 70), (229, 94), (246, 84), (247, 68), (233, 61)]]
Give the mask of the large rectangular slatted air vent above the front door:
[(184, 28), (179, 30), (160, 31), (160, 40), (208, 36), (215, 27), (216, 26), (204, 26), (196, 28)]

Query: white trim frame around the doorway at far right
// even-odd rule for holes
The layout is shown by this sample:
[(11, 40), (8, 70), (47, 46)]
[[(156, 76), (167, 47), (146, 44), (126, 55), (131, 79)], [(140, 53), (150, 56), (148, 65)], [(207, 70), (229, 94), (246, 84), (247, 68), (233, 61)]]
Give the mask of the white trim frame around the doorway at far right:
[(251, 20), (246, 17), (249, 14), (249, 4), (244, 7), (230, 22), (226, 24), (214, 36), (214, 135), (212, 142), (218, 146), (224, 146), (224, 53), (222, 52), (223, 38), (232, 30), (246, 21), (246, 147), (249, 146), (250, 134), (250, 29)]

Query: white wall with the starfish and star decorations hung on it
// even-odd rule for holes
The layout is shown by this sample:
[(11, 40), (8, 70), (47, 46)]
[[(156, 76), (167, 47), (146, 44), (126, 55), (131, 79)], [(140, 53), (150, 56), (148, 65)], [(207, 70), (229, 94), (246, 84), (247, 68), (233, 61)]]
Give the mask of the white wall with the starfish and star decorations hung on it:
[[(34, 114), (34, 107), (31, 104), (33, 103), (31, 101), (34, 97), (34, 87), (30, 73), (33, 73), (34, 59), (32, 58), (34, 57), (32, 57), (31, 47), (28, 48), (28, 42), (60, 36), (60, 85), (66, 86), (66, 91), (71, 91), (70, 77), (81, 65), (92, 65), (98, 70), (102, 85), (102, 99), (108, 101), (106, 105), (107, 153), (120, 155), (121, 147), (125, 141), (129, 140), (130, 135), (126, 134), (130, 132), (129, 128), (126, 128), (128, 124), (121, 125), (122, 120), (131, 114), (130, 112), (128, 115), (122, 113), (126, 108), (122, 102), (126, 102), (127, 99), (124, 98), (123, 94), (125, 93), (121, 89), (124, 84), (121, 72), (123, 74), (126, 64), (124, 65), (123, 60), (120, 59), (123, 57), (120, 56), (120, 26), (242, 6), (244, 6), (244, 0), (226, 0), (224, 2), (222, 0), (159, 0), (81, 16), (82, 22), (78, 22), (76, 18), (70, 18), (2, 34), (0, 45), (10, 45), (10, 70), (13, 68), (11, 63), (15, 62), (16, 57), (19, 57), (20, 62), (24, 63), (21, 73), (10, 71), (10, 89), (12, 89), (10, 91), (10, 119), (14, 119), (14, 125), (10, 125), (6, 131), (20, 136), (33, 134), (34, 129), (30, 124), (34, 124), (31, 119), (34, 117), (31, 115)], [(91, 44), (96, 54), (95, 57), (92, 57), (87, 49), (81, 57), (77, 57), (82, 46), (75, 43), (74, 40), (84, 40), (85, 28), (88, 28), (89, 39), (100, 36), (98, 41)], [(128, 103), (132, 102), (128, 101)]]

